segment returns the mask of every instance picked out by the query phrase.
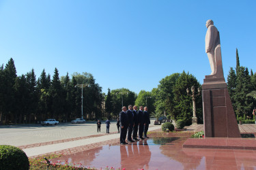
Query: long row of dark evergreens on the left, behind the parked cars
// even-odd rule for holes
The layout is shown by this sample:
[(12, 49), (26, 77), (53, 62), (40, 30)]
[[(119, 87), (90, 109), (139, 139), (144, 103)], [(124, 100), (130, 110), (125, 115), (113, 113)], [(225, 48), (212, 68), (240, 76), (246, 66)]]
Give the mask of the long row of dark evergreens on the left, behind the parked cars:
[(14, 60), (0, 67), (0, 122), (35, 123), (46, 118), (60, 122), (81, 118), (81, 85), (83, 84), (83, 118), (96, 119), (103, 115), (102, 88), (90, 73), (73, 73), (59, 78), (55, 68), (53, 79), (42, 71), (36, 80), (32, 69), (16, 75)]

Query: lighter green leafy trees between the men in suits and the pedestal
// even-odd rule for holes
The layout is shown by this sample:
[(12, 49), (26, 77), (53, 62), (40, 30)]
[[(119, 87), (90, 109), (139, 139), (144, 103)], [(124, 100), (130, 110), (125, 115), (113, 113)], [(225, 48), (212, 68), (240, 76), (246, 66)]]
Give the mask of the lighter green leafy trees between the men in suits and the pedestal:
[[(191, 124), (193, 117), (192, 98), (187, 95), (186, 88), (195, 86), (201, 88), (198, 80), (191, 74), (173, 73), (160, 80), (158, 87), (152, 91), (141, 90), (137, 96), (128, 89), (122, 88), (110, 90), (106, 95), (105, 110), (108, 115), (118, 116), (122, 105), (118, 103), (120, 99), (127, 107), (130, 105), (147, 106), (148, 112), (153, 116), (170, 116), (174, 120), (185, 120), (186, 124)], [(191, 93), (190, 93), (191, 94)], [(116, 101), (115, 101), (116, 100)], [(196, 98), (197, 118), (199, 123), (203, 123), (203, 109), (201, 95)]]

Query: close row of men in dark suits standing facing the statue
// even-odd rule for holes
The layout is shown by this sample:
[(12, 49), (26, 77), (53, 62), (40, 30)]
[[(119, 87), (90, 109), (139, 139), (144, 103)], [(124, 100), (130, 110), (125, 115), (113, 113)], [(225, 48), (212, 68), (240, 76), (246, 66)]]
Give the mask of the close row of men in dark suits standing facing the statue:
[[(139, 141), (139, 139), (143, 140), (147, 137), (147, 130), (150, 124), (150, 114), (147, 112), (147, 106), (139, 107), (139, 111), (137, 112), (137, 106), (132, 105), (128, 106), (128, 110), (126, 106), (122, 107), (122, 112), (119, 114), (120, 120), (120, 143), (122, 145), (126, 144), (126, 135), (128, 142)], [(137, 138), (139, 130), (139, 139)], [(144, 133), (144, 135), (143, 135)]]

